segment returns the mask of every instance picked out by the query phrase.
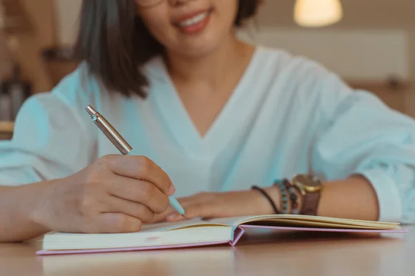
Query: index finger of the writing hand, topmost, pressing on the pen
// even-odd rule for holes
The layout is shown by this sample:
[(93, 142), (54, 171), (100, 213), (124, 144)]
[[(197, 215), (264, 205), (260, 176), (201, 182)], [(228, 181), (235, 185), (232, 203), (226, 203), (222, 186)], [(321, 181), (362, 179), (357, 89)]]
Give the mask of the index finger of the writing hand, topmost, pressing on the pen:
[(168, 175), (147, 157), (107, 155), (104, 158), (105, 163), (117, 175), (150, 182), (167, 196), (174, 195), (176, 191)]

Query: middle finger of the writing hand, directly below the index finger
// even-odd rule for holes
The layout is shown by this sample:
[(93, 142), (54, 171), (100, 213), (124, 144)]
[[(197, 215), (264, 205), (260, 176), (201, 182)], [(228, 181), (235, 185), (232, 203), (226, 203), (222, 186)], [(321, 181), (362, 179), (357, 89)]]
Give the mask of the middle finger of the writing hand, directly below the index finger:
[(107, 183), (111, 195), (145, 205), (154, 213), (163, 213), (169, 206), (167, 195), (148, 181), (113, 175)]

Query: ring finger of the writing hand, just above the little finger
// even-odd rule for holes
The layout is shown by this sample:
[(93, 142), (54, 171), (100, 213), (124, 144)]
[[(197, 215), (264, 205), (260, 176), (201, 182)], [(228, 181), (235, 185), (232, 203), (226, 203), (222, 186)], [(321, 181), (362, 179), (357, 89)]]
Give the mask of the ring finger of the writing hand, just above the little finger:
[(102, 213), (122, 213), (131, 217), (140, 219), (143, 223), (149, 223), (154, 219), (154, 212), (151, 211), (144, 204), (139, 204), (134, 201), (121, 199), (119, 197), (109, 197), (107, 205), (102, 210)]

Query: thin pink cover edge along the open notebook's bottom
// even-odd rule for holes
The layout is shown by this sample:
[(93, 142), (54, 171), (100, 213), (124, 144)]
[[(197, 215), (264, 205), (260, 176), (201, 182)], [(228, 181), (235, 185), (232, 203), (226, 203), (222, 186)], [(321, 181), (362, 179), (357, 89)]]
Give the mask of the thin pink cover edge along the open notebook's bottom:
[(337, 233), (407, 233), (407, 229), (398, 230), (371, 230), (371, 229), (342, 229), (342, 228), (304, 228), (304, 227), (285, 227), (285, 226), (257, 226), (257, 225), (241, 225), (234, 229), (234, 237), (232, 241), (218, 241), (218, 242), (202, 242), (194, 244), (176, 244), (171, 246), (140, 246), (129, 248), (104, 248), (104, 249), (86, 249), (86, 250), (38, 250), (37, 255), (70, 255), (70, 254), (86, 254), (86, 253), (116, 253), (129, 251), (144, 251), (144, 250), (160, 250), (160, 249), (174, 249), (174, 248), (194, 248), (202, 246), (216, 246), (221, 244), (229, 244), (236, 246), (243, 233), (244, 228), (270, 229), (270, 230), (294, 230), (294, 231), (310, 231), (310, 232), (337, 232)]

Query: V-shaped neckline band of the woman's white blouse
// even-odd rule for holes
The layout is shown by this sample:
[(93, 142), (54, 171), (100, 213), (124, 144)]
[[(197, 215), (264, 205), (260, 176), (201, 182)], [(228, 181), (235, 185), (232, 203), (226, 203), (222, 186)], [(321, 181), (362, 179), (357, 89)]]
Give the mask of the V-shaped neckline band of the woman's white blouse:
[(232, 95), (203, 137), (181, 101), (163, 59), (157, 57), (147, 65), (151, 83), (149, 97), (154, 100), (169, 131), (187, 153), (204, 158), (212, 157), (232, 139), (245, 121), (248, 110), (255, 104), (257, 96), (255, 91), (249, 89), (249, 83), (255, 79), (253, 75), (260, 53), (261, 48), (257, 46)]

